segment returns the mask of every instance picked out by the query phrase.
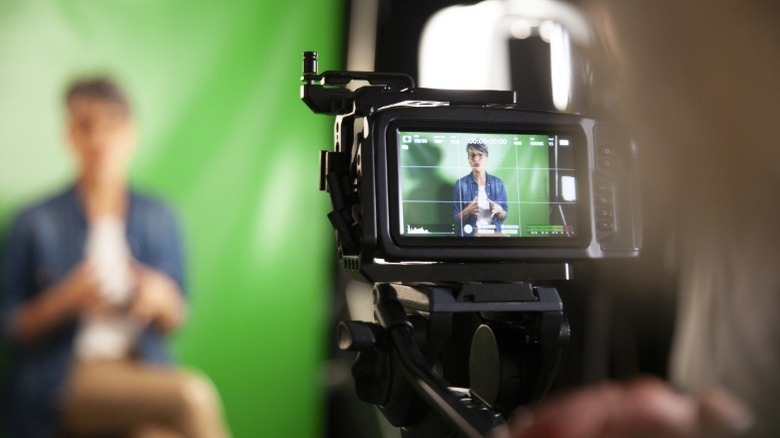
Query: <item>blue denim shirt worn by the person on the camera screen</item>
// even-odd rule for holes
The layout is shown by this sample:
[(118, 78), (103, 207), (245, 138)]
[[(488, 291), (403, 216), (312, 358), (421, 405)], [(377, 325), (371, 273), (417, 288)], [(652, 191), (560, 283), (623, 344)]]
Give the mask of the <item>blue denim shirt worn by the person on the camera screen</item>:
[[(490, 174), (485, 174), (485, 193), (487, 193), (488, 199), (493, 202), (498, 202), (504, 211), (509, 211), (509, 204), (507, 204), (506, 188), (504, 188), (504, 182), (500, 178)], [(455, 222), (455, 233), (458, 236), (473, 236), (477, 229), (477, 217), (471, 215), (467, 218), (458, 219), (458, 214), (463, 211), (464, 208), (477, 197), (479, 194), (479, 185), (474, 179), (474, 175), (469, 173), (463, 178), (458, 179), (455, 182), (453, 189), (452, 199), (452, 217)], [(493, 216), (493, 225), (496, 227), (496, 232), (501, 232), (502, 221), (497, 216)], [(471, 227), (466, 227), (470, 225)]]

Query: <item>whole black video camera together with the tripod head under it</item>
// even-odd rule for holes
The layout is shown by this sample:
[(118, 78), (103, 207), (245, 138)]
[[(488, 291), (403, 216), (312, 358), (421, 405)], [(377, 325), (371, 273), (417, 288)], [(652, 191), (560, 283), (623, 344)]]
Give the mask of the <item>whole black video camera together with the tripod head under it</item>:
[[(336, 117), (320, 189), (331, 197), (339, 259), (374, 284), (376, 322), (339, 327), (339, 347), (359, 352), (359, 397), (405, 436), (504, 427), (549, 389), (568, 340), (561, 299), (539, 282), (568, 279), (575, 260), (639, 252), (629, 135), (588, 117), (524, 110), (512, 91), (319, 74), (316, 52), (304, 52), (301, 80), (309, 108)], [(456, 183), (471, 172), (474, 145), (500, 161), (498, 223), (457, 219), (476, 202), (459, 199)], [(468, 336), (470, 348), (458, 348)]]

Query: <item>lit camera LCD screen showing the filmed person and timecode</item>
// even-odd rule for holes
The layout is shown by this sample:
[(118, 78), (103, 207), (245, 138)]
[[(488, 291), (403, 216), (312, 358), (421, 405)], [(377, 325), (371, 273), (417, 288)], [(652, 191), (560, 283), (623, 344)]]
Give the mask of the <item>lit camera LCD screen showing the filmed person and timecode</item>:
[(575, 130), (394, 134), (402, 239), (577, 239)]

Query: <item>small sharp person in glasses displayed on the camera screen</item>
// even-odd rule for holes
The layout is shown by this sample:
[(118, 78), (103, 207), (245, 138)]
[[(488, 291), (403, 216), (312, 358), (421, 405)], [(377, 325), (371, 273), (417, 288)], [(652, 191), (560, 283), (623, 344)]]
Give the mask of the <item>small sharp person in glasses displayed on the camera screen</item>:
[(482, 143), (466, 146), (471, 173), (458, 179), (453, 190), (453, 217), (459, 236), (501, 232), (509, 209), (501, 178), (489, 175), (488, 149)]

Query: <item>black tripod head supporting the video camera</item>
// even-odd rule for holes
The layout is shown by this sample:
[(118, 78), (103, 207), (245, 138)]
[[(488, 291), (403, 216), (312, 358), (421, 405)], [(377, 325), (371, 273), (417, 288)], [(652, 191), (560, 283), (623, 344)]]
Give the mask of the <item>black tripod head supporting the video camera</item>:
[(377, 283), (374, 304), (375, 323), (340, 324), (339, 348), (358, 352), (360, 399), (404, 437), (505, 427), (549, 389), (569, 336), (558, 292), (531, 283)]

